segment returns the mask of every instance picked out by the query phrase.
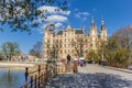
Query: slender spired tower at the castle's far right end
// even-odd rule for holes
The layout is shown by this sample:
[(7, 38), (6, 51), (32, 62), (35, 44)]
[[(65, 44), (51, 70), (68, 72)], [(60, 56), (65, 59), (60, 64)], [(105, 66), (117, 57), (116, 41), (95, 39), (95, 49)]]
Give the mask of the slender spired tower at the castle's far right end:
[(105, 26), (105, 21), (103, 21), (103, 19), (101, 20), (100, 38), (101, 38), (102, 41), (107, 41), (107, 28)]

